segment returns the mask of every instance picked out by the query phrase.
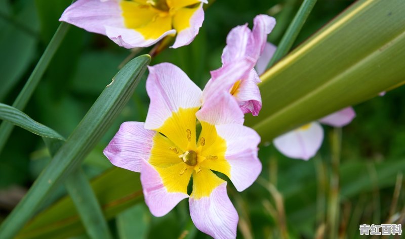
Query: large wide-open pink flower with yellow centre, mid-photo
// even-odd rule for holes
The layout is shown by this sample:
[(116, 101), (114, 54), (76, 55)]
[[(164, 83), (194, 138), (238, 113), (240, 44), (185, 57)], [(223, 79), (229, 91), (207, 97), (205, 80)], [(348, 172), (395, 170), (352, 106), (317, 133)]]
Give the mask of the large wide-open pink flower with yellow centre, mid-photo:
[(146, 122), (123, 123), (104, 154), (112, 164), (141, 173), (153, 215), (163, 216), (189, 198), (199, 230), (215, 238), (236, 237), (238, 215), (226, 193), (227, 182), (213, 171), (228, 176), (238, 191), (249, 187), (262, 169), (259, 135), (242, 125), (244, 114), (230, 94), (218, 94), (199, 110), (201, 90), (172, 64), (149, 67), (146, 89)]

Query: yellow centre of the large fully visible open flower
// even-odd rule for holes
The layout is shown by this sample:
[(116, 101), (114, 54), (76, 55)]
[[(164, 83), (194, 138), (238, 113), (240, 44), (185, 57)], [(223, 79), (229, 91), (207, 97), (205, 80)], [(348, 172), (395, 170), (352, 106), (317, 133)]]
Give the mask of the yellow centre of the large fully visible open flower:
[(231, 175), (230, 164), (225, 159), (227, 143), (217, 133), (216, 126), (201, 121), (197, 137), (195, 114), (198, 109), (180, 108), (155, 129), (159, 133), (153, 137), (148, 161), (170, 193), (187, 193), (192, 175), (195, 198), (209, 196), (223, 182), (211, 170)]

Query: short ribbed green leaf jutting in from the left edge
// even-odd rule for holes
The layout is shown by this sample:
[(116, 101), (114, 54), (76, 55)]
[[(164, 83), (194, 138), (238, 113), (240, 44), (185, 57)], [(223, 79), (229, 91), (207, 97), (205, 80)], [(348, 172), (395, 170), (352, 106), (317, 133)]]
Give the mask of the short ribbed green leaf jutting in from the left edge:
[(0, 103), (0, 119), (9, 121), (14, 125), (42, 137), (64, 140), (63, 136), (55, 130), (36, 122), (23, 112), (3, 103)]

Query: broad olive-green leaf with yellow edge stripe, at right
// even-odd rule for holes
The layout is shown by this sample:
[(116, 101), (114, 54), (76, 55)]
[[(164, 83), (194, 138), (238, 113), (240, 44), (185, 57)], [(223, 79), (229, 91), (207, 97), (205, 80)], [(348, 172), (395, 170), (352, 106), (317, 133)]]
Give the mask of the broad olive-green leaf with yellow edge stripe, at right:
[[(262, 76), (262, 141), (403, 82), (405, 5), (358, 1)], [(361, 26), (361, 27), (360, 27)]]

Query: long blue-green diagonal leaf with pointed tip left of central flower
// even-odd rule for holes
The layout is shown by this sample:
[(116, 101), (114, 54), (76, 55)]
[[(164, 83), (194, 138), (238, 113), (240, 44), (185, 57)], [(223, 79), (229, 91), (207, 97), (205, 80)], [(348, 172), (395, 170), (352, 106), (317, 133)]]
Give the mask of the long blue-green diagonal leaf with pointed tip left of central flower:
[(149, 62), (148, 55), (137, 57), (115, 75), (25, 197), (2, 223), (0, 238), (14, 237), (52, 190), (82, 163), (131, 98)]

